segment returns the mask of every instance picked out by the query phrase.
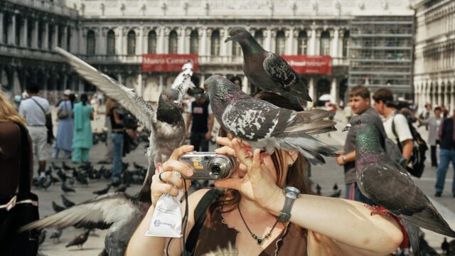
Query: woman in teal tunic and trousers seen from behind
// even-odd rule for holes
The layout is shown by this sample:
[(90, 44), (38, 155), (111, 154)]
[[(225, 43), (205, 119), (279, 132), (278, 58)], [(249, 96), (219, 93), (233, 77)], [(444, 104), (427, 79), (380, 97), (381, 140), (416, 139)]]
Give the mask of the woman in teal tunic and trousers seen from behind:
[(88, 104), (86, 94), (80, 95), (80, 102), (74, 105), (73, 163), (88, 162), (88, 153), (93, 146), (92, 125), (93, 107)]

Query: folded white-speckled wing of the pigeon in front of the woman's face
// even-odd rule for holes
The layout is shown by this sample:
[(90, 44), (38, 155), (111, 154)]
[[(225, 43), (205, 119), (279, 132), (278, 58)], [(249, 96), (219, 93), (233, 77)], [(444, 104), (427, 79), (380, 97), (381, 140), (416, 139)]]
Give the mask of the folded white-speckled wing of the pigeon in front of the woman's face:
[(255, 142), (281, 134), (294, 120), (296, 112), (255, 98), (228, 105), (221, 122), (236, 137)]

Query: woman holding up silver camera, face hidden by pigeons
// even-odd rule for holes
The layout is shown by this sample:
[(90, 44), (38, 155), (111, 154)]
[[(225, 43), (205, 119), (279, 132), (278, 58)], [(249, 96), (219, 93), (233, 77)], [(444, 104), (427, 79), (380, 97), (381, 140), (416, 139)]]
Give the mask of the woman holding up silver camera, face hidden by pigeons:
[[(194, 255), (387, 255), (402, 242), (400, 225), (392, 217), (370, 215), (371, 211), (356, 201), (311, 195), (304, 181), (306, 160), (298, 152), (276, 150), (261, 161), (259, 149), (248, 157), (245, 144), (230, 134), (218, 137), (217, 142), (222, 147), (216, 152), (235, 156), (237, 168), (230, 178), (215, 181), (217, 188), (227, 190), (208, 208)], [(175, 149), (156, 170), (151, 183), (153, 206), (129, 241), (126, 255), (164, 255), (168, 238), (144, 233), (158, 198), (163, 193), (177, 196), (183, 182), (189, 187), (189, 181), (171, 171), (191, 176), (193, 169), (178, 158), (192, 150), (193, 146)], [(284, 188), (301, 191), (291, 207)], [(188, 198), (186, 237), (195, 225), (195, 209), (205, 193), (208, 190), (196, 191)], [(169, 255), (181, 255), (182, 250), (181, 239), (168, 245)]]

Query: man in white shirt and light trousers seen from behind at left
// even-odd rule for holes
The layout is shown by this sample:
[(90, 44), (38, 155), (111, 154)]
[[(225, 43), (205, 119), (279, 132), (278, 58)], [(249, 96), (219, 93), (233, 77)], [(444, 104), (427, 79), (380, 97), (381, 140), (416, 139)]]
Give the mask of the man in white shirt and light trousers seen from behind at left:
[(39, 87), (32, 83), (28, 87), (28, 97), (19, 105), (19, 114), (27, 122), (27, 129), (33, 142), (33, 154), (39, 161), (38, 174), (45, 178), (45, 161), (48, 159), (48, 129), (45, 115), (49, 114), (49, 102), (38, 96)]

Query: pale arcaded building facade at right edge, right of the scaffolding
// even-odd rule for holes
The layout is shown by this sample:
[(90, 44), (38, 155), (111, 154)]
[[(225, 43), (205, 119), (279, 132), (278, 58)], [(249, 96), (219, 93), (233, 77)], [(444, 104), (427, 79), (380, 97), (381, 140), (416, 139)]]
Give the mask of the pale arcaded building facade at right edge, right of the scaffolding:
[(414, 4), (416, 36), (414, 100), (455, 107), (455, 1), (422, 0)]

